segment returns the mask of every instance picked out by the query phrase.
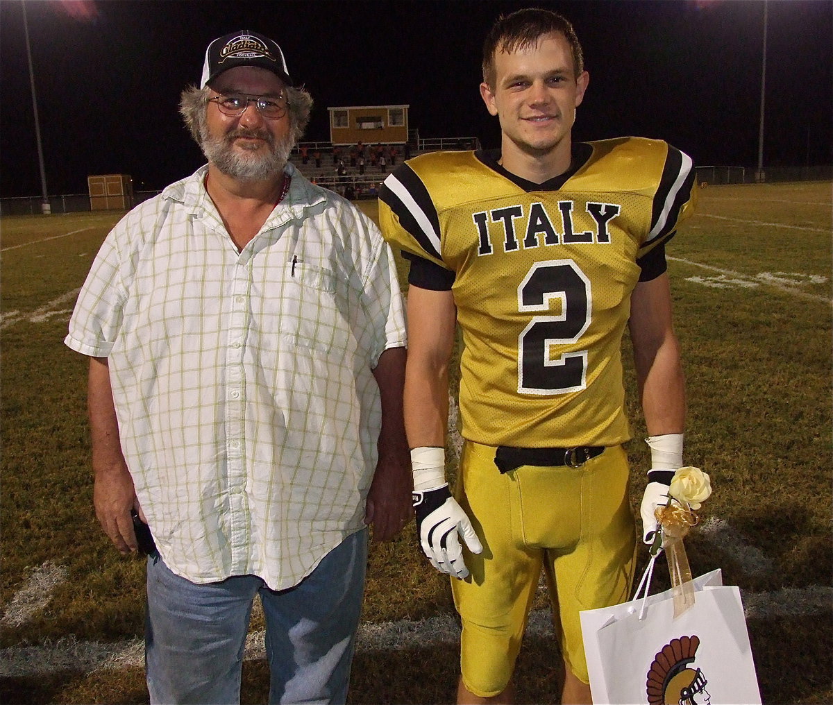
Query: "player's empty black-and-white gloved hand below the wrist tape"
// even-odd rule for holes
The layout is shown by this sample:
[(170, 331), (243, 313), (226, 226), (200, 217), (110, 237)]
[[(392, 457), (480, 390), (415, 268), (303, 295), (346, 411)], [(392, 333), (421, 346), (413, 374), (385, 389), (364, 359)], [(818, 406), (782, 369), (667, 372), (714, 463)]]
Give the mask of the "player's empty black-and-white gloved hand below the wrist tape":
[(451, 497), (448, 485), (414, 493), (416, 530), (422, 552), (441, 573), (455, 578), (469, 574), (457, 534), (463, 537), (472, 554), (483, 550), (466, 513)]

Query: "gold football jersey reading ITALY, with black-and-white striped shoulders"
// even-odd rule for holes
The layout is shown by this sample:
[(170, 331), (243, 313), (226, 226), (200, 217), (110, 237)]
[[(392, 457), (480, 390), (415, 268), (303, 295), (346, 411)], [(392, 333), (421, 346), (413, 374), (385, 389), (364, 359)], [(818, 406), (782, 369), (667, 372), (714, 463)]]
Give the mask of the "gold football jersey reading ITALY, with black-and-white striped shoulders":
[(466, 439), (630, 438), (621, 338), (638, 261), (691, 212), (694, 175), (666, 142), (623, 137), (575, 144), (570, 170), (543, 184), (481, 151), (417, 156), (387, 177), (387, 241), (453, 272)]

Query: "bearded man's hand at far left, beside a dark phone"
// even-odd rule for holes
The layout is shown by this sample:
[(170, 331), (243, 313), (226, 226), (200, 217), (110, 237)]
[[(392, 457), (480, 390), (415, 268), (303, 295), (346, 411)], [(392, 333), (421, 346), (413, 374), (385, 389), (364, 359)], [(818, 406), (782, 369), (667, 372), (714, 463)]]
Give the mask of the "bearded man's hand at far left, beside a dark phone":
[(136, 509), (142, 521), (147, 522), (147, 519), (139, 500), (136, 499), (127, 465), (123, 465), (122, 468), (98, 470), (92, 499), (98, 521), (118, 551), (122, 554), (137, 551), (136, 532), (133, 530), (130, 510)]

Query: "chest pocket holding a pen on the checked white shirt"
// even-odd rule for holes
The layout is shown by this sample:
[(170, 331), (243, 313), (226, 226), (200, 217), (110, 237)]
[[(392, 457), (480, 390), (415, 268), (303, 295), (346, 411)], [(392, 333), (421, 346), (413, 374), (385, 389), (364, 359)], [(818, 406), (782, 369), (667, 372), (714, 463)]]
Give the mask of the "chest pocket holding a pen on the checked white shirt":
[(281, 334), (298, 348), (327, 355), (352, 352), (349, 288), (336, 272), (290, 264), (281, 301)]

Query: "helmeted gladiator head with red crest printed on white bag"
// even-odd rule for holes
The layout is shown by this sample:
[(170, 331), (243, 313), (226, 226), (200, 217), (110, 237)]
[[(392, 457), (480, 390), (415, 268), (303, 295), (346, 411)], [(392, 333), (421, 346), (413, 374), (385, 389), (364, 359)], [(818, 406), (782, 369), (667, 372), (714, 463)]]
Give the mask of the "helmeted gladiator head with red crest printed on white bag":
[(711, 705), (706, 677), (700, 668), (688, 668), (700, 646), (696, 636), (671, 639), (656, 654), (648, 671), (648, 705)]

